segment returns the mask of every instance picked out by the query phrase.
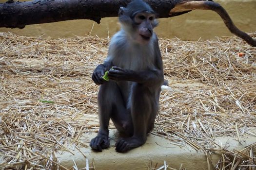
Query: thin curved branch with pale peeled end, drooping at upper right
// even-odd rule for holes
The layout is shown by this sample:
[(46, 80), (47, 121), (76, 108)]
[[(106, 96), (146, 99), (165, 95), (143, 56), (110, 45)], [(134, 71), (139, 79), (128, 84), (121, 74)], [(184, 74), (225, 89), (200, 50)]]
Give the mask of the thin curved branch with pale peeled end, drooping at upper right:
[(220, 4), (212, 0), (181, 0), (181, 2), (170, 11), (170, 13), (191, 11), (196, 9), (215, 11), (222, 18), (231, 33), (245, 40), (250, 46), (256, 47), (256, 38), (252, 38), (250, 35), (239, 30), (233, 23), (227, 11)]

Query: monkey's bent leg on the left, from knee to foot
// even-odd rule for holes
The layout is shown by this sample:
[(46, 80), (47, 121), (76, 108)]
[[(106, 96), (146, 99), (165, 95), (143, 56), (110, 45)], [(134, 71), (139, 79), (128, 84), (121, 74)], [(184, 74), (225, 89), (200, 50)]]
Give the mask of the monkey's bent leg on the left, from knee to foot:
[(99, 131), (90, 142), (92, 149), (102, 151), (109, 147), (109, 120), (112, 119), (118, 131), (133, 133), (130, 112), (125, 108), (118, 85), (114, 81), (100, 85), (98, 92)]

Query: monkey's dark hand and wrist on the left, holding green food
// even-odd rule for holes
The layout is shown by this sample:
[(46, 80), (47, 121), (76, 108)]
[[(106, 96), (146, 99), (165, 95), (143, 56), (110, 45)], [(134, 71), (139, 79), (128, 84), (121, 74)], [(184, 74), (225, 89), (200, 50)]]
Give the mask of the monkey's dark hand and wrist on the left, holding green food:
[(112, 62), (105, 61), (103, 64), (100, 64), (97, 66), (97, 68), (95, 68), (93, 75), (92, 75), (92, 79), (96, 85), (101, 85), (105, 82), (104, 79), (102, 78), (102, 76), (112, 66), (113, 66)]

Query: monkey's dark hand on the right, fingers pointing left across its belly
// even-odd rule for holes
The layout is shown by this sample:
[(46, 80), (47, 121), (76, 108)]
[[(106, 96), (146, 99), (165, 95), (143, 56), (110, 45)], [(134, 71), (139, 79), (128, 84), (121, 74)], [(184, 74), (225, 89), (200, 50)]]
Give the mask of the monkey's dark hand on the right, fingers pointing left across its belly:
[(112, 69), (109, 70), (108, 77), (109, 79), (116, 81), (129, 81), (131, 80), (133, 74), (133, 70), (118, 68), (114, 66), (112, 67)]

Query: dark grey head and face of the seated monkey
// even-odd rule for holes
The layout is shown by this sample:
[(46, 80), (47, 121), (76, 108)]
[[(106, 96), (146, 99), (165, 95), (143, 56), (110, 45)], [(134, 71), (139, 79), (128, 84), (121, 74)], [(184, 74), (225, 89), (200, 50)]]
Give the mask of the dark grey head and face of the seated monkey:
[(122, 29), (140, 44), (150, 41), (158, 25), (156, 13), (143, 0), (132, 0), (126, 8), (120, 7), (118, 16)]

